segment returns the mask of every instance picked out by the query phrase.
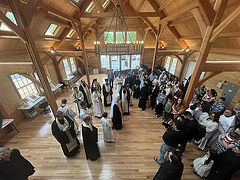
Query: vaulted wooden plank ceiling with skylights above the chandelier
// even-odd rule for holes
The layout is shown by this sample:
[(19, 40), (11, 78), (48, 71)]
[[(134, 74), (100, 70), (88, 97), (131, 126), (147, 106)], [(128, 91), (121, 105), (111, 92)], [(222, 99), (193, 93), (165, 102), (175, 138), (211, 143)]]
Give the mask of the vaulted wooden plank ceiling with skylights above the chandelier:
[[(73, 28), (71, 21), (81, 23), (84, 27), (87, 48), (93, 48), (93, 41), (103, 38), (103, 32), (108, 29), (115, 5), (121, 4), (127, 25), (131, 30), (144, 31), (150, 29), (147, 47), (154, 47), (154, 34), (159, 23), (167, 23), (160, 37), (160, 41), (168, 49), (182, 49), (189, 47), (198, 50), (208, 24), (211, 12), (206, 11), (199, 3), (201, 0), (110, 0), (106, 8), (102, 7), (105, 0), (31, 0), (38, 1), (38, 9), (31, 29), (37, 47), (45, 51), (61, 42), (60, 50), (73, 50), (78, 46), (78, 35), (74, 33), (66, 38), (66, 32)], [(85, 12), (91, 2), (94, 7), (90, 13)], [(27, 1), (25, 1), (26, 3)], [(212, 4), (214, 0), (210, 1)], [(239, 8), (239, 0), (229, 0), (224, 17), (227, 18), (235, 9)], [(1, 11), (8, 10), (6, 1), (0, 1)], [(238, 16), (238, 15), (237, 15)], [(55, 36), (46, 36), (45, 31), (50, 23), (60, 25)], [(143, 38), (143, 37), (142, 37)], [(240, 21), (235, 18), (214, 41), (212, 51), (216, 53), (236, 54), (240, 52)], [(7, 54), (11, 50), (24, 51), (23, 43), (12, 32), (0, 31), (0, 54)]]

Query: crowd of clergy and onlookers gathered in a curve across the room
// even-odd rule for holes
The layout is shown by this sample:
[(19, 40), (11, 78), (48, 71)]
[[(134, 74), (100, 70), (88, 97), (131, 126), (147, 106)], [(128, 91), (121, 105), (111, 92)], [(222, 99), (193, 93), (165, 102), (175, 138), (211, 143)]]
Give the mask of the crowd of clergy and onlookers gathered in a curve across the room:
[[(209, 180), (231, 179), (240, 169), (240, 103), (227, 108), (224, 97), (217, 97), (214, 89), (201, 85), (184, 107), (186, 88), (177, 77), (164, 70), (150, 75), (144, 69), (125, 74), (109, 71), (104, 84), (101, 86), (93, 79), (91, 89), (82, 79), (79, 86), (73, 87), (72, 101), (76, 111), (62, 99), (52, 123), (52, 134), (64, 155), (72, 157), (79, 152), (77, 134), (82, 131), (86, 159), (95, 161), (100, 157), (100, 151), (98, 129), (92, 117), (100, 119), (104, 141), (114, 143), (112, 129), (123, 128), (123, 117), (130, 114), (134, 98), (142, 111), (149, 105), (156, 117), (163, 120), (166, 129), (159, 156), (154, 157), (160, 165), (154, 180), (181, 179), (184, 169), (181, 157), (190, 142), (196, 144), (199, 151), (208, 149), (207, 154), (193, 161), (193, 174)], [(104, 107), (110, 107), (111, 119)], [(82, 128), (79, 128), (76, 116), (79, 116)], [(10, 154), (14, 151), (10, 152), (0, 147), (0, 166), (5, 157), (11, 159)], [(19, 152), (17, 154), (20, 156)], [(34, 167), (29, 162), (25, 164), (29, 168), (28, 174), (34, 173)]]

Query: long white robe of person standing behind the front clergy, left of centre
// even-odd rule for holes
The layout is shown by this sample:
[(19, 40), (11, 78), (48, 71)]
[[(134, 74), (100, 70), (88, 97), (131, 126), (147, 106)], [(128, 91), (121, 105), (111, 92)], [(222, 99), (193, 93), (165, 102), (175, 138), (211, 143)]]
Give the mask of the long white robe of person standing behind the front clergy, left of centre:
[(93, 113), (96, 117), (102, 117), (103, 114), (103, 104), (101, 99), (101, 94), (99, 92), (92, 93), (92, 101), (93, 101)]

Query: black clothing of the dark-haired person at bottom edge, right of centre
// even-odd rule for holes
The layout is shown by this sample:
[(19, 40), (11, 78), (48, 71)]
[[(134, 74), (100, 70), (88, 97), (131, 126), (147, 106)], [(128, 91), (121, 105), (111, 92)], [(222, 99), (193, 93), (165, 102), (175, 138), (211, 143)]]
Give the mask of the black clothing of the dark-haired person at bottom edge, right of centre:
[(181, 180), (183, 163), (178, 168), (174, 168), (170, 161), (164, 162), (159, 168), (153, 180)]

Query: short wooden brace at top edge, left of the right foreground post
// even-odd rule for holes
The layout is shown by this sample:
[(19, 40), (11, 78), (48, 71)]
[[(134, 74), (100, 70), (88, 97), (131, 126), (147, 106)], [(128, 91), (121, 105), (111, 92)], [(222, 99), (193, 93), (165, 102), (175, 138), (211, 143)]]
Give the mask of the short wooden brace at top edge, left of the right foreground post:
[(211, 26), (216, 15), (216, 12), (213, 9), (212, 4), (209, 2), (209, 0), (197, 0), (197, 1), (200, 9), (203, 12), (207, 24)]

